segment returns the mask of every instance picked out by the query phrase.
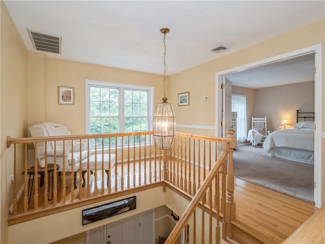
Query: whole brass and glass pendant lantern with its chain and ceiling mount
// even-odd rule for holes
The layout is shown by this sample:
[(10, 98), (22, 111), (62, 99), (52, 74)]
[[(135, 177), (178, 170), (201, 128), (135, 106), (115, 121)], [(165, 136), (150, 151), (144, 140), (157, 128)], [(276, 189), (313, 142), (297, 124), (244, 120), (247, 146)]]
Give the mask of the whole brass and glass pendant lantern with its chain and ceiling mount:
[(175, 130), (176, 117), (173, 107), (166, 98), (166, 34), (169, 28), (162, 28), (160, 32), (164, 34), (164, 98), (162, 103), (158, 103), (153, 114), (153, 138), (158, 149), (171, 149)]

